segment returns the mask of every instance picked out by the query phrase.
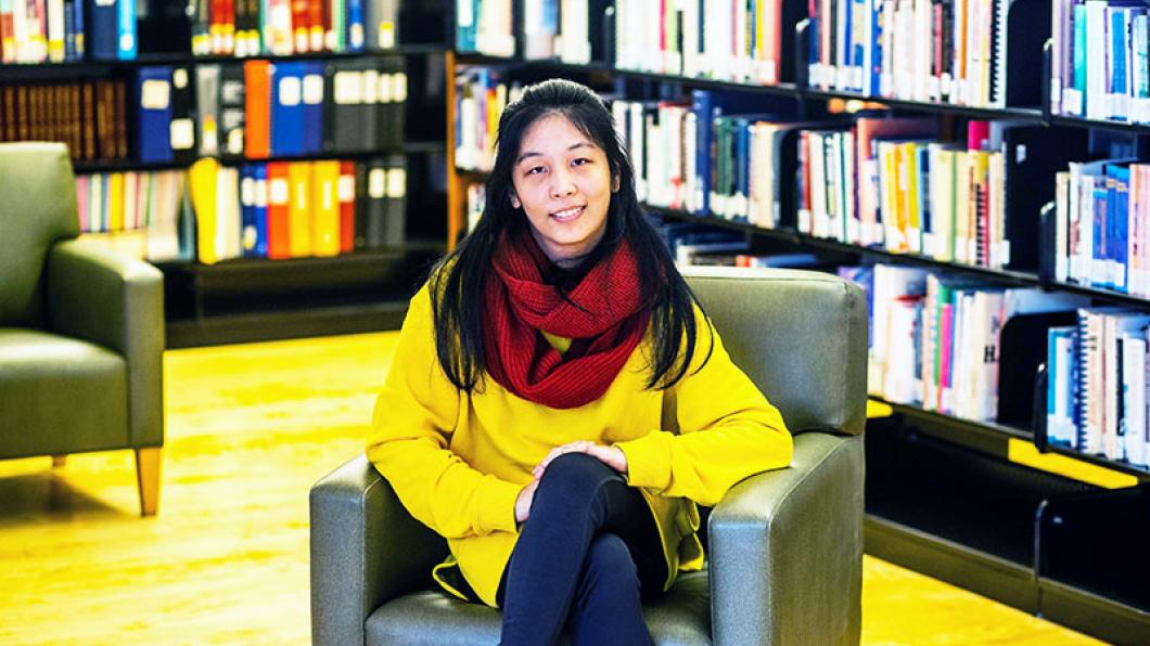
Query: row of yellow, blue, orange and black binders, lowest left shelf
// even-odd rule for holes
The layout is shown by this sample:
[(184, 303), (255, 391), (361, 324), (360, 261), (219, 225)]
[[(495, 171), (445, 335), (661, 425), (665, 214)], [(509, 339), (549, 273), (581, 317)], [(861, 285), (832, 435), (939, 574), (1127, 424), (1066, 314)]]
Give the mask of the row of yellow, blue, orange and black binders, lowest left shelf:
[(201, 263), (233, 257), (331, 256), (404, 243), (407, 163), (400, 155), (351, 161), (189, 169)]

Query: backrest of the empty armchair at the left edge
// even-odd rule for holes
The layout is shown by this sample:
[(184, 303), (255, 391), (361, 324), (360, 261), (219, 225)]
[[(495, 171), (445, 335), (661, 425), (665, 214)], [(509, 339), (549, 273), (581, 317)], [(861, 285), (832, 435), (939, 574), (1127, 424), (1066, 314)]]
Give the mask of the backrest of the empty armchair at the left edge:
[(0, 325), (41, 328), (45, 256), (79, 233), (63, 144), (0, 144)]

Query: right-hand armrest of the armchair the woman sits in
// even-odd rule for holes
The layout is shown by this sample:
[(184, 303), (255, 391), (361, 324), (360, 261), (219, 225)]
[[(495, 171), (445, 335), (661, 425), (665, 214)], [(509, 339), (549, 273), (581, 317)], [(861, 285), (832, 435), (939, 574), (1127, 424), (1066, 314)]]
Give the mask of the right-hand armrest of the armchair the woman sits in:
[(714, 508), (715, 644), (858, 644), (862, 457), (861, 436), (802, 433), (791, 468), (743, 480)]

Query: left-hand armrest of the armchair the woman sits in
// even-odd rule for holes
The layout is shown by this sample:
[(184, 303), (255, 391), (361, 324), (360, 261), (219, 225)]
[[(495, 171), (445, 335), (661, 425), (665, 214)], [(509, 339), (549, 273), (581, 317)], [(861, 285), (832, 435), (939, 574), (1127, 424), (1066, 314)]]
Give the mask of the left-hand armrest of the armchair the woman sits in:
[(312, 643), (363, 644), (376, 608), (430, 580), (443, 538), (360, 455), (312, 487)]

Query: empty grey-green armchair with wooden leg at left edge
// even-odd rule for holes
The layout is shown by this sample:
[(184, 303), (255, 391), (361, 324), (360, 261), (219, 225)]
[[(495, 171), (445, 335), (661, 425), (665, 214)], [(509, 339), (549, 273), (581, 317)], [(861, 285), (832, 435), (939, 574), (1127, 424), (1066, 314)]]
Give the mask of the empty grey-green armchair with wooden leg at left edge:
[(0, 459), (132, 448), (144, 515), (163, 445), (163, 277), (75, 238), (60, 144), (0, 145)]

